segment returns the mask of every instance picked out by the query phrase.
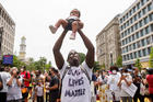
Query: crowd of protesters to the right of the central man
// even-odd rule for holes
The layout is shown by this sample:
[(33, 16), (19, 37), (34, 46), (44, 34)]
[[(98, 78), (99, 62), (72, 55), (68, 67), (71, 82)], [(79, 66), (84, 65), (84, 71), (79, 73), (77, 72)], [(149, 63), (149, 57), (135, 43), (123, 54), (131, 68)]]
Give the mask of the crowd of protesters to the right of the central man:
[(153, 68), (111, 66), (93, 73), (92, 84), (93, 102), (153, 102)]

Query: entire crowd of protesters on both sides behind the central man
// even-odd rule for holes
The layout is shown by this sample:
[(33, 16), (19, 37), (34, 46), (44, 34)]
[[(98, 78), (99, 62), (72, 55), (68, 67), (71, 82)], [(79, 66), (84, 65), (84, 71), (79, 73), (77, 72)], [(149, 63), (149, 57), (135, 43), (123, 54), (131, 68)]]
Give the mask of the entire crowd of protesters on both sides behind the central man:
[[(122, 88), (131, 84), (137, 88), (134, 95)], [(20, 70), (16, 67), (0, 68), (0, 102), (60, 102), (60, 87), (56, 68), (45, 72), (30, 72), (25, 67)], [(93, 72), (91, 90), (92, 102), (146, 102), (146, 99), (153, 102), (153, 69), (111, 66), (109, 70)]]

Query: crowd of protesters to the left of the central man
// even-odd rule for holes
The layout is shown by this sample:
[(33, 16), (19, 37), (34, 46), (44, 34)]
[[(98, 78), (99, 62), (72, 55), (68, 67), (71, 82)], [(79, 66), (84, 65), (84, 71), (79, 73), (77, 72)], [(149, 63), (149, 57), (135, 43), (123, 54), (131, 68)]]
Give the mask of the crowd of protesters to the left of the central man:
[(60, 102), (60, 79), (56, 68), (28, 71), (0, 68), (0, 102)]

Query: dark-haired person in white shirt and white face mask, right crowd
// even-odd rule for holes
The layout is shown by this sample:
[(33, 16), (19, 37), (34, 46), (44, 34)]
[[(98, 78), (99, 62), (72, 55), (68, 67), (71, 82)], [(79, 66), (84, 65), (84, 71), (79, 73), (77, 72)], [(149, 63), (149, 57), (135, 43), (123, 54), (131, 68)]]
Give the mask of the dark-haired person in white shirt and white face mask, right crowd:
[(120, 102), (120, 89), (118, 87), (118, 82), (120, 79), (120, 75), (118, 73), (118, 67), (111, 66), (110, 67), (110, 76), (108, 77), (108, 88), (111, 91), (113, 102)]

